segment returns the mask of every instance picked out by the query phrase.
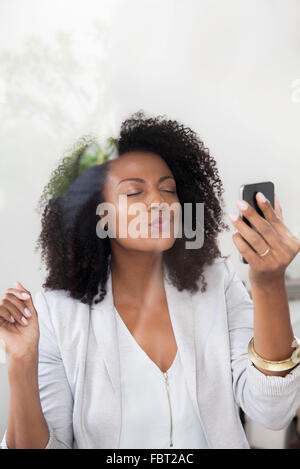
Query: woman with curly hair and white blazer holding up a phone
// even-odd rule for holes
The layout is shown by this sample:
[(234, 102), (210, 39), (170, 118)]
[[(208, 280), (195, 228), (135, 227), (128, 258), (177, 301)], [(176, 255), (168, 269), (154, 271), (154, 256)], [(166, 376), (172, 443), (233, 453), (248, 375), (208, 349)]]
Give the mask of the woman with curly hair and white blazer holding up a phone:
[[(257, 198), (265, 219), (245, 207), (257, 231), (232, 220), (252, 301), (218, 249), (217, 234), (228, 229), (222, 182), (193, 131), (138, 112), (122, 124), (117, 158), (82, 171), (87, 146), (44, 193), (44, 289), (32, 300), (16, 283), (1, 301), (10, 384), (2, 447), (249, 448), (239, 408), (283, 428), (300, 404), (300, 367), (267, 371), (248, 355), (252, 337), (263, 359), (296, 349), (284, 272), (300, 243), (278, 200), (273, 210)], [(187, 249), (171, 206), (184, 220), (186, 204), (201, 202), (203, 246)], [(98, 213), (99, 203), (109, 205)], [(145, 207), (146, 236), (136, 236), (134, 204)]]

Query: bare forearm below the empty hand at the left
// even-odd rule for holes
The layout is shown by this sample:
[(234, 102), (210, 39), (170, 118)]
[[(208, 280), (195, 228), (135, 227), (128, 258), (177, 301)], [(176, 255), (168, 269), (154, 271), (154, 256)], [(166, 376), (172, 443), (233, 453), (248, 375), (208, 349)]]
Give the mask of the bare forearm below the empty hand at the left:
[(38, 359), (18, 360), (8, 367), (10, 403), (6, 432), (9, 449), (42, 449), (48, 443), (38, 390)]

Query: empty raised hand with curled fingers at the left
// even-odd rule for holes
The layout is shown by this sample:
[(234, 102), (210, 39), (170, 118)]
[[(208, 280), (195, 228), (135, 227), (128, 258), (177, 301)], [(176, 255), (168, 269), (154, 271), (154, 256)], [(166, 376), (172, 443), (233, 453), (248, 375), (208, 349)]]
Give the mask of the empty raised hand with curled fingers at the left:
[(0, 339), (9, 360), (36, 359), (39, 324), (31, 294), (20, 282), (8, 288), (0, 300)]

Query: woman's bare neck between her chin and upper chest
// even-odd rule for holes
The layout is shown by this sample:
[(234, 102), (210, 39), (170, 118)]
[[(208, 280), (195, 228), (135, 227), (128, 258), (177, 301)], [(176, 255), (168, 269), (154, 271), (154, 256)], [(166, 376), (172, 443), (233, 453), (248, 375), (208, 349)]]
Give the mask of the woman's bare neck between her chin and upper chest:
[(136, 307), (147, 307), (165, 296), (162, 252), (129, 251), (112, 248), (111, 275), (116, 302), (132, 300)]

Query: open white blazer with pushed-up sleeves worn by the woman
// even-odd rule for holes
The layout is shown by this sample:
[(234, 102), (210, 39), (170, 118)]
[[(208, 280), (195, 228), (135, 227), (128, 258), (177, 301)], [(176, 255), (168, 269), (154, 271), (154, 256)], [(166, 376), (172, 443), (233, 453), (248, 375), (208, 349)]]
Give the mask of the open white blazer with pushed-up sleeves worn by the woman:
[[(180, 292), (164, 279), (188, 390), (209, 448), (249, 448), (239, 407), (267, 428), (284, 428), (300, 405), (300, 366), (285, 377), (255, 368), (247, 353), (253, 302), (232, 262), (215, 259), (204, 274), (205, 293)], [(111, 275), (107, 295), (91, 309), (65, 290), (40, 290), (34, 304), (46, 448), (118, 448), (122, 409)]]

